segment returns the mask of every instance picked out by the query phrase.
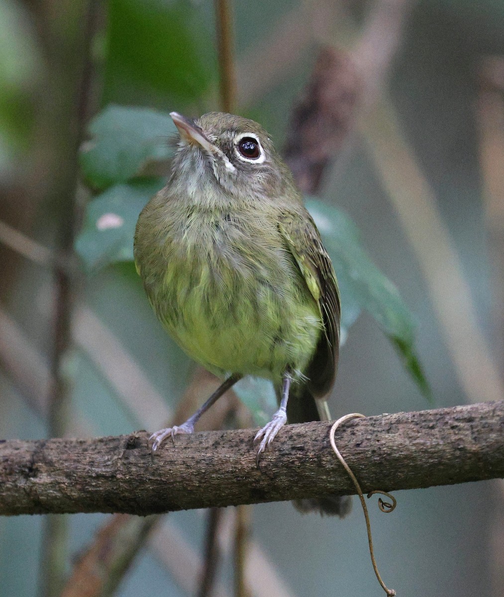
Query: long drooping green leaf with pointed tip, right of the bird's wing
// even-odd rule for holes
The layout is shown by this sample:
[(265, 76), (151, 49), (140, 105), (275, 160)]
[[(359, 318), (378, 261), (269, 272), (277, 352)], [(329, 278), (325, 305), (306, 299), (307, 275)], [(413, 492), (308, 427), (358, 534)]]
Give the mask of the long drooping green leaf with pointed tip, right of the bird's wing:
[(342, 296), (342, 324), (346, 332), (365, 309), (397, 350), (402, 364), (420, 391), (433, 402), (432, 393), (414, 349), (415, 324), (397, 288), (383, 275), (362, 248), (357, 226), (342, 211), (308, 198), (306, 207), (322, 235), (336, 270)]

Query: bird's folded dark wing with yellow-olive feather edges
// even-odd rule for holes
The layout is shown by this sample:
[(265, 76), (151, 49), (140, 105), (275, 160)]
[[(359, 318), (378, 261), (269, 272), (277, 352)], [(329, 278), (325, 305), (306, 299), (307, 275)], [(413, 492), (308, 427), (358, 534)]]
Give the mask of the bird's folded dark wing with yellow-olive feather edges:
[(325, 333), (307, 371), (309, 389), (315, 398), (321, 398), (333, 386), (339, 356), (341, 307), (336, 275), (308, 211), (304, 214), (284, 212), (279, 230), (318, 304), (324, 323)]

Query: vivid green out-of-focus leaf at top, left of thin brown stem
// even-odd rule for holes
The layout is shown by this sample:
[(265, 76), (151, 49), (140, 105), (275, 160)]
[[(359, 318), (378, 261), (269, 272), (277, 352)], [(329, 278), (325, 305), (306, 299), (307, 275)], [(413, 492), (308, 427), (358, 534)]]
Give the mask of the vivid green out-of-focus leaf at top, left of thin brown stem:
[(188, 102), (216, 78), (214, 27), (195, 2), (111, 0), (105, 97), (132, 88)]

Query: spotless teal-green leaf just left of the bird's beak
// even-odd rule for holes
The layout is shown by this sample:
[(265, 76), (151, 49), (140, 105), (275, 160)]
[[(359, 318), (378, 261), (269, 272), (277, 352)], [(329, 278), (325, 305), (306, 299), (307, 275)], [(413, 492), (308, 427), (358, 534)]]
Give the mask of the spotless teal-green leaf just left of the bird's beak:
[(173, 153), (167, 136), (176, 131), (168, 114), (147, 108), (108, 106), (91, 121), (92, 139), (81, 153), (82, 174), (96, 189), (125, 182), (150, 160)]

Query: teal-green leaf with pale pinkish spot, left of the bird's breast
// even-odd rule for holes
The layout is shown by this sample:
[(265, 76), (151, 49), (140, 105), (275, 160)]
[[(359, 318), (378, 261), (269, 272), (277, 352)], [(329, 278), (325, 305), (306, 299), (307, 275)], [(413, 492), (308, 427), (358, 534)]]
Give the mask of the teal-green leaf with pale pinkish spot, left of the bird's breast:
[(133, 261), (133, 236), (140, 211), (164, 183), (164, 179), (148, 179), (116, 184), (88, 204), (75, 242), (87, 270)]

